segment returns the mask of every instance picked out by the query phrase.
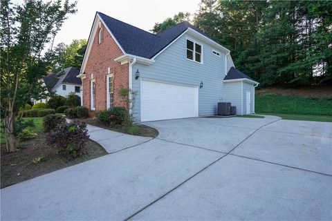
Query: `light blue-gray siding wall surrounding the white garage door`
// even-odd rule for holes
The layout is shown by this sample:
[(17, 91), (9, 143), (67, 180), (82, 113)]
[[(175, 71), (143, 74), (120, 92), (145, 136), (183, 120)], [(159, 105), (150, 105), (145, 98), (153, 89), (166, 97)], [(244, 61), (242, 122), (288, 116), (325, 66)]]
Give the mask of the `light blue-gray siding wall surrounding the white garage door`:
[[(203, 46), (203, 64), (187, 59), (186, 40), (196, 41)], [(185, 34), (164, 50), (150, 66), (144, 64), (133, 65), (133, 90), (138, 92), (136, 96), (133, 114), (140, 121), (140, 81), (150, 79), (165, 81), (173, 84), (199, 86), (203, 81), (203, 88), (199, 88), (199, 116), (215, 115), (216, 104), (225, 100), (223, 95), (223, 78), (225, 77), (225, 54), (221, 57), (212, 54), (212, 48), (203, 41)], [(135, 79), (136, 70), (140, 72), (140, 78)], [(179, 95), (181, 96), (181, 95)]]

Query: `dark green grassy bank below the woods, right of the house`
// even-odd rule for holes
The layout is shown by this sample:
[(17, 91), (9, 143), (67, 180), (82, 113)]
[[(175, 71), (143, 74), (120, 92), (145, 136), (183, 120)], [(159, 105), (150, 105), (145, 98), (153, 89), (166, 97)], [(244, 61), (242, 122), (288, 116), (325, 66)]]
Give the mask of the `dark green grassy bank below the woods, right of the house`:
[(256, 113), (332, 116), (332, 97), (296, 97), (264, 94), (255, 97)]

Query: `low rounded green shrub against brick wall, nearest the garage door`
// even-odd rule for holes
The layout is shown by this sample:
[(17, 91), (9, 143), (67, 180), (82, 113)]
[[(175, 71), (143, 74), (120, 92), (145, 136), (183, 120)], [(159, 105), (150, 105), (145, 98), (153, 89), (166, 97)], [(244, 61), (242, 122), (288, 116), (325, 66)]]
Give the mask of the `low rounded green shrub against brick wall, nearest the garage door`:
[(126, 109), (115, 106), (107, 111), (99, 111), (97, 119), (98, 122), (105, 125), (121, 125), (126, 114)]

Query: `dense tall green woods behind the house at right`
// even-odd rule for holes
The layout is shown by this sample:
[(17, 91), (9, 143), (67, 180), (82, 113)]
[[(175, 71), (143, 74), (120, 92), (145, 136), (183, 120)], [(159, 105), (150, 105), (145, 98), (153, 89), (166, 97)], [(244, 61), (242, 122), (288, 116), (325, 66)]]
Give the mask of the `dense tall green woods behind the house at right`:
[(332, 1), (202, 0), (151, 31), (190, 21), (231, 50), (260, 86), (332, 86)]

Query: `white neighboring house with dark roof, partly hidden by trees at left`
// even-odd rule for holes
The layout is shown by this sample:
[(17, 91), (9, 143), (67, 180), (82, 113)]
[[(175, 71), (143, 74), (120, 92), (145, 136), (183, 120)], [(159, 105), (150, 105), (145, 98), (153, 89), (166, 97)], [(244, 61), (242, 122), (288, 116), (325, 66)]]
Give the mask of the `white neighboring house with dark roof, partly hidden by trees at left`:
[[(77, 78), (79, 74), (80, 70), (77, 70), (77, 68), (64, 68), (59, 73), (49, 73), (46, 77), (43, 77), (42, 84), (48, 88), (48, 91), (52, 91), (57, 95), (66, 97), (69, 93), (73, 92), (82, 99), (82, 80)], [(33, 103), (47, 103), (48, 99), (34, 100)]]

